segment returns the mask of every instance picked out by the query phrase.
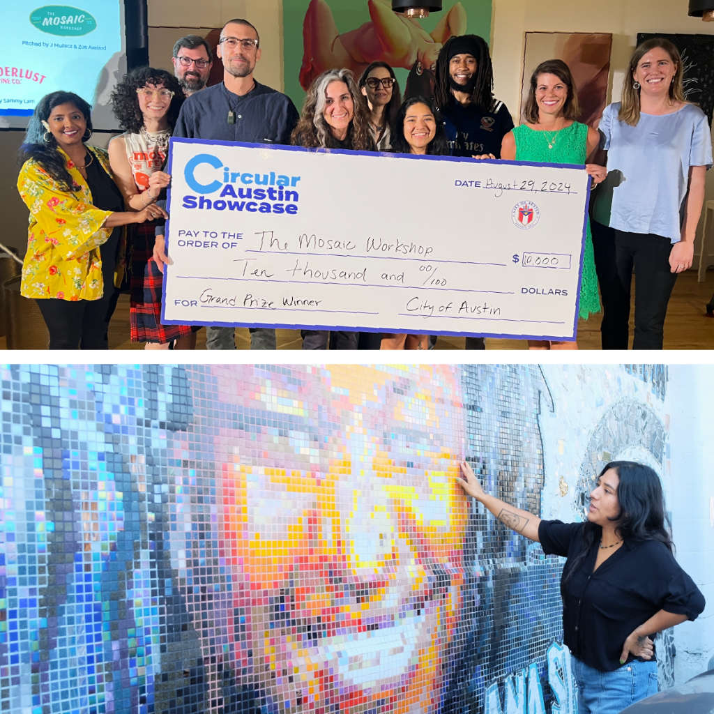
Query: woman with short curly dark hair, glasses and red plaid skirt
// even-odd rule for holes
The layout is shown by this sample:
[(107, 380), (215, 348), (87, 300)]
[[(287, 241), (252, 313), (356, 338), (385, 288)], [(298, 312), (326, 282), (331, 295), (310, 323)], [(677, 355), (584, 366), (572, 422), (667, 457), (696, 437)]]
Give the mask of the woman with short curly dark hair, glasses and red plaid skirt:
[[(116, 85), (111, 99), (126, 131), (109, 142), (109, 161), (129, 211), (143, 211), (165, 198), (169, 186), (163, 169), (183, 90), (169, 72), (139, 67)], [(145, 223), (131, 245), (131, 341), (144, 342), (146, 349), (193, 349), (191, 326), (161, 324), (163, 276), (153, 257), (155, 230), (156, 223)]]

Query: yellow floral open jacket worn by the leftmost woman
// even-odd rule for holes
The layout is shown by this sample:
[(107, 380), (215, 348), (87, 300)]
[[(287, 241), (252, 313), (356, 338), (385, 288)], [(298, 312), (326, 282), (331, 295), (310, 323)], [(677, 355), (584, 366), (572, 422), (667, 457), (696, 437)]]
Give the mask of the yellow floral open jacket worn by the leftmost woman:
[[(106, 151), (96, 146), (87, 149), (112, 177)], [(26, 298), (97, 300), (104, 295), (99, 246), (113, 230), (102, 226), (112, 211), (92, 205), (84, 176), (64, 151), (58, 151), (66, 159), (73, 191), (63, 191), (33, 159), (25, 161), (17, 179), (20, 197), (30, 211), (21, 294)], [(122, 231), (115, 285), (121, 283), (125, 250)]]

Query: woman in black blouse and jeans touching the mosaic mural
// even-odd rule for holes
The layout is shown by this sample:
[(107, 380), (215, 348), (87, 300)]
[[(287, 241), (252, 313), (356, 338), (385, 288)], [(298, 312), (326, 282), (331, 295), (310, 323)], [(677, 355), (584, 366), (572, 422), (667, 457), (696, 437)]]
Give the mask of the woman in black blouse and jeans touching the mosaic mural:
[(657, 692), (652, 635), (695, 620), (704, 597), (680, 568), (660, 480), (632, 461), (603, 468), (588, 521), (543, 521), (488, 496), (468, 463), (463, 490), (501, 523), (568, 558), (560, 579), (563, 642), (573, 656), (578, 714), (616, 714)]

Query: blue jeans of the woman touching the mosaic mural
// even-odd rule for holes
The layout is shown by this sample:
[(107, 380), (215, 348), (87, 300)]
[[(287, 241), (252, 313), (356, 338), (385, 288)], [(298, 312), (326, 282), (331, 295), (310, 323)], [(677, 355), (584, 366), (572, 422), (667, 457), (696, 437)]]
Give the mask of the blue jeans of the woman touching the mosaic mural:
[(657, 693), (657, 663), (634, 660), (614, 672), (600, 672), (573, 657), (578, 714), (618, 714)]

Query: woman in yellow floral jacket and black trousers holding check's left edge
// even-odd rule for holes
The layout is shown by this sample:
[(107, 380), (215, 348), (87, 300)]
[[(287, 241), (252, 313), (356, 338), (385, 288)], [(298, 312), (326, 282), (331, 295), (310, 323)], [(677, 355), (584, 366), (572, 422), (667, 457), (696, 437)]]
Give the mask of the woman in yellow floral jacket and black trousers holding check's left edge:
[(91, 107), (56, 91), (39, 101), (20, 148), (17, 188), (30, 211), (21, 293), (36, 298), (50, 349), (107, 349), (124, 272), (124, 231), (166, 213), (124, 211), (104, 149), (86, 146)]

